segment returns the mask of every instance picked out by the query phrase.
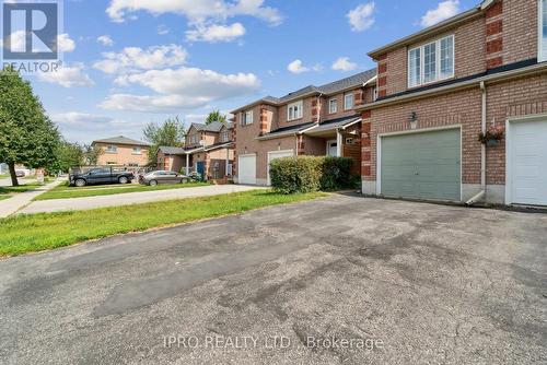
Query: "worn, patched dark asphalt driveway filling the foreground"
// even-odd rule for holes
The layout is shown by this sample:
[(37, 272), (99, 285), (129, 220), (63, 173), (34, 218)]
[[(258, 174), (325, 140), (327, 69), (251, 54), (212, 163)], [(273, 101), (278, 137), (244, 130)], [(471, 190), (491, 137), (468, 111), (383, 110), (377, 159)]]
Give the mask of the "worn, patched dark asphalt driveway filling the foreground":
[(547, 215), (333, 196), (0, 261), (2, 364), (547, 362)]

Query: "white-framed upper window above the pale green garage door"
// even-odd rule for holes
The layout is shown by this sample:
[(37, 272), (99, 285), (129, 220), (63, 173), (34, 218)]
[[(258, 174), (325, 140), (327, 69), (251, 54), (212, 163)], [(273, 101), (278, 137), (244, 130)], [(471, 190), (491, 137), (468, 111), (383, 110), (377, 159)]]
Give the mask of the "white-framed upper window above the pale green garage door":
[(454, 76), (454, 36), (408, 51), (408, 85), (419, 86)]

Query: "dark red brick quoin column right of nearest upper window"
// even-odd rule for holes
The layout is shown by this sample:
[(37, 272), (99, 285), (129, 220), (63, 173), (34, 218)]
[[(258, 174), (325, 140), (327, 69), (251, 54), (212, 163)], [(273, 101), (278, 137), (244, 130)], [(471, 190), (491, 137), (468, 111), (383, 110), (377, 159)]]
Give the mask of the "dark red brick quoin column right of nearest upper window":
[(486, 64), (493, 69), (503, 64), (503, 2), (486, 11)]

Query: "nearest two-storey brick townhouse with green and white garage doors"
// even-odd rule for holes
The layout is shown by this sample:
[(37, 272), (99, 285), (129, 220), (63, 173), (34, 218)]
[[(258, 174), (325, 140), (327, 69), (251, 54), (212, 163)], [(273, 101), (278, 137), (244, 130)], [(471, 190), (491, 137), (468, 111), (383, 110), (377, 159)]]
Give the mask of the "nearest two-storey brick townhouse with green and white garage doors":
[(364, 193), (547, 205), (547, 0), (482, 1), (369, 56)]

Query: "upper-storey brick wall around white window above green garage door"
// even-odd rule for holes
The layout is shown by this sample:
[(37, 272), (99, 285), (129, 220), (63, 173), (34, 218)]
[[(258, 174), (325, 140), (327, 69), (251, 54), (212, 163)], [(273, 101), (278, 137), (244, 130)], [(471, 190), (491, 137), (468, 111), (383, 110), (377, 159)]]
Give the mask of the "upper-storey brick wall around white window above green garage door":
[(444, 35), (454, 34), (456, 79), (537, 57), (537, 8), (536, 0), (499, 0), (481, 16), (387, 52), (377, 60), (380, 96), (407, 90), (408, 49)]

